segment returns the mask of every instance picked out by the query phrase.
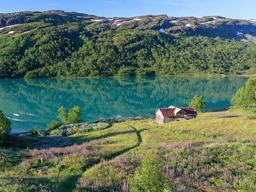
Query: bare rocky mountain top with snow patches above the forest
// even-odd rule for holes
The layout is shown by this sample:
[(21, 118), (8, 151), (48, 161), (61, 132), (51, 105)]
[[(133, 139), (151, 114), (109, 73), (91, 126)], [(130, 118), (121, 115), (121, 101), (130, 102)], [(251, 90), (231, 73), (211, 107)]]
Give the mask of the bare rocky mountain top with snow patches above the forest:
[[(17, 12), (0, 14), (0, 28), (15, 24), (31, 24), (47, 22), (52, 25), (77, 24), (91, 25), (89, 28), (98, 32), (114, 30), (161, 30), (171, 35), (222, 38), (237, 40), (252, 40), (256, 42), (256, 20), (234, 20), (220, 16), (168, 17), (167, 15), (146, 15), (134, 18), (104, 18), (77, 12), (46, 11)], [(52, 21), (52, 22), (51, 22)], [(101, 28), (98, 28), (101, 27)], [(251, 36), (251, 38), (249, 38)]]

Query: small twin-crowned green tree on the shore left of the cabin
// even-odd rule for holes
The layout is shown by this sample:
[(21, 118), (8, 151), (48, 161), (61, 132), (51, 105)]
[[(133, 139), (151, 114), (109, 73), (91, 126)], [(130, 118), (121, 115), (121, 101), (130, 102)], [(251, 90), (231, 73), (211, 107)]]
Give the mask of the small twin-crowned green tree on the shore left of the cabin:
[(59, 116), (58, 118), (62, 120), (66, 125), (81, 123), (83, 120), (81, 118), (82, 109), (78, 106), (71, 108), (68, 112), (67, 109), (61, 106), (59, 108)]

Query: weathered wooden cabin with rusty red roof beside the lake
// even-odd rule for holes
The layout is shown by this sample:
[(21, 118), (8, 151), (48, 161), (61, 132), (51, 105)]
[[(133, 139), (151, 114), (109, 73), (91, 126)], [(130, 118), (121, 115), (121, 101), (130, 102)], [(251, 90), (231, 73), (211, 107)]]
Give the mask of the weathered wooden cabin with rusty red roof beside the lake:
[(171, 121), (184, 121), (196, 118), (197, 112), (194, 108), (159, 108), (155, 111), (155, 120), (158, 123), (168, 123)]

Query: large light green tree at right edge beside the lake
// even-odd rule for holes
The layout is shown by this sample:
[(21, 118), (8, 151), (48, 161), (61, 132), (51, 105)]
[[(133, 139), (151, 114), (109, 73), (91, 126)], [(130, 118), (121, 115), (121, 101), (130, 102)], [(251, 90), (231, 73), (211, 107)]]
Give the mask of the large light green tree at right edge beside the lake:
[(256, 78), (250, 78), (231, 100), (235, 108), (249, 109), (256, 112)]

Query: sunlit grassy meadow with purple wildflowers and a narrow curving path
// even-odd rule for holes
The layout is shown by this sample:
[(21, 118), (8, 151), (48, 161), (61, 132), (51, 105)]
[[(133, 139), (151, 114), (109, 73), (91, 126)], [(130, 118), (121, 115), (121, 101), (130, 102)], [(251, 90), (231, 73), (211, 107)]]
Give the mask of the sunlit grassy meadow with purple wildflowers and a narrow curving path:
[(250, 112), (207, 112), (167, 124), (125, 121), (68, 139), (65, 147), (1, 148), (0, 192), (129, 192), (149, 151), (160, 154), (166, 192), (256, 190), (256, 116)]

